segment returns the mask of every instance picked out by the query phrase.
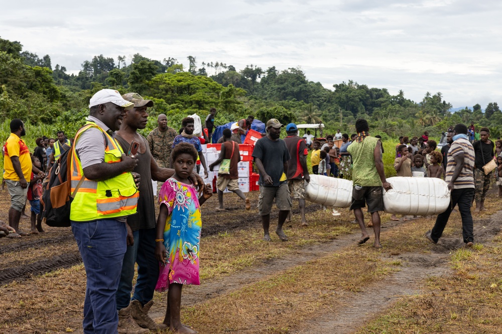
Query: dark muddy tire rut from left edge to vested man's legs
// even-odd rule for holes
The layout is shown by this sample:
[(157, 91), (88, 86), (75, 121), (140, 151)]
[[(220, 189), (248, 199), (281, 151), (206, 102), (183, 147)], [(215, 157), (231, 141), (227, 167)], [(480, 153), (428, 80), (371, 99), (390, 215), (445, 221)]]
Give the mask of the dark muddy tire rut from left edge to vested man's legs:
[(0, 270), (0, 285), (41, 275), (61, 268), (69, 268), (82, 262), (79, 252), (57, 255), (52, 258)]

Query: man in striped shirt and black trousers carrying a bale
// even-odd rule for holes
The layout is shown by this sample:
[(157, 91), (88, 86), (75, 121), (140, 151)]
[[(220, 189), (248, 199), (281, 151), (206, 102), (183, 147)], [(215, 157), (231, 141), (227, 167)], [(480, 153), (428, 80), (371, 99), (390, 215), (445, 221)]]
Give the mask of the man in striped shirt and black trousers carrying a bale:
[(462, 217), (462, 236), (468, 247), (474, 242), (473, 223), (470, 207), (474, 196), (474, 148), (467, 137), (467, 127), (457, 124), (453, 128), (453, 143), (448, 150), (446, 164), (446, 178), (448, 189), (451, 191), (451, 204), (446, 211), (439, 214), (436, 224), (427, 232), (427, 239), (437, 243), (448, 222), (450, 213), (458, 204)]

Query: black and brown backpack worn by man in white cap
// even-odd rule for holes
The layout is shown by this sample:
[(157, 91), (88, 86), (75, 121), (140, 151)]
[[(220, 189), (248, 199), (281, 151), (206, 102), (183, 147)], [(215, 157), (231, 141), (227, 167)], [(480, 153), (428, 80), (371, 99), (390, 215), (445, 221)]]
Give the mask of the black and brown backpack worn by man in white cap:
[(85, 179), (78, 182), (73, 194), (71, 193), (71, 159), (73, 148), (66, 150), (54, 163), (49, 171), (49, 179), (42, 195), (44, 205), (43, 219), (45, 223), (53, 227), (70, 226), (70, 208), (73, 197)]

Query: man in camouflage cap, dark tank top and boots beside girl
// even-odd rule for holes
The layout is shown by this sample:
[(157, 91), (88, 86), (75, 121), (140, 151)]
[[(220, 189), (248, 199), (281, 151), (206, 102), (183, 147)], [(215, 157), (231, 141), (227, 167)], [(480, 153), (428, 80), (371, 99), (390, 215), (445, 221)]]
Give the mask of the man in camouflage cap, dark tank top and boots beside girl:
[[(122, 98), (134, 103), (134, 108), (126, 111), (116, 139), (124, 151), (129, 150), (133, 141), (140, 144), (136, 153), (138, 166), (134, 172), (140, 174), (145, 182), (140, 184), (138, 213), (127, 219), (128, 247), (116, 294), (118, 329), (119, 332), (141, 334), (149, 332), (148, 329), (166, 328), (165, 324), (157, 324), (148, 315), (159, 277), (159, 262), (155, 258), (155, 204), (150, 179), (161, 181), (162, 184), (174, 174), (174, 170), (157, 165), (147, 139), (138, 133), (138, 129), (144, 129), (147, 125), (147, 107), (153, 107), (153, 101), (143, 99), (138, 93), (127, 93)], [(199, 184), (203, 184), (202, 179), (199, 181)], [(131, 298), (135, 263), (138, 264), (138, 278)]]

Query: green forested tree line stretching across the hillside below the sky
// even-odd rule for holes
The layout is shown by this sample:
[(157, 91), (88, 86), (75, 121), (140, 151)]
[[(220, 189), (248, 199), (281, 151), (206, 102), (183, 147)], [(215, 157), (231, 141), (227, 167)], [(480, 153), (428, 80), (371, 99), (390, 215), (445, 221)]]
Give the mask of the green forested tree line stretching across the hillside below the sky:
[[(323, 122), (324, 133), (336, 129), (350, 133), (355, 120), (365, 118), (372, 132), (385, 139), (425, 130), (438, 137), (450, 125), (472, 121), (489, 127), (492, 137), (502, 133), (502, 112), (496, 102), (490, 102), (484, 113), (479, 104), (451, 113), (452, 105), (440, 92), (426, 92), (422, 101), (414, 102), (402, 90), (391, 95), (385, 88), (351, 80), (326, 89), (309, 81), (301, 68), (264, 70), (250, 64), (237, 70), (221, 61), (203, 61), (199, 66), (196, 57), (187, 60), (186, 69), (172, 57), (160, 61), (140, 54), (130, 60), (98, 55), (84, 61), (74, 75), (63, 65), (53, 66), (49, 55), (39, 57), (23, 50), (20, 42), (0, 38), (0, 113), (4, 120), (21, 118), (42, 132), (61, 129), (71, 136), (87, 115), (89, 98), (102, 88), (112, 88), (152, 99), (150, 114), (166, 114), (174, 128), (183, 117), (197, 113), (204, 118), (215, 107), (216, 124), (254, 115), (264, 122), (270, 118), (285, 124)], [(151, 117), (144, 134), (154, 127), (156, 117)]]

